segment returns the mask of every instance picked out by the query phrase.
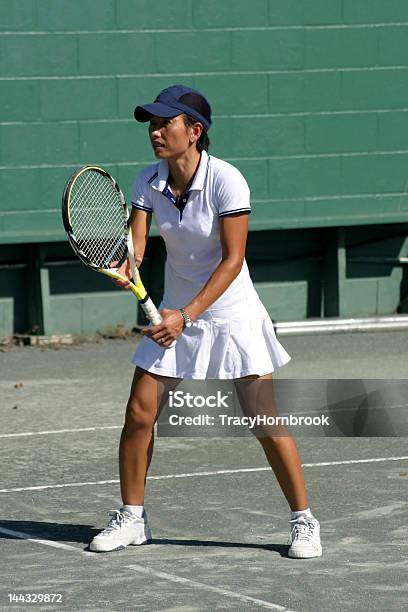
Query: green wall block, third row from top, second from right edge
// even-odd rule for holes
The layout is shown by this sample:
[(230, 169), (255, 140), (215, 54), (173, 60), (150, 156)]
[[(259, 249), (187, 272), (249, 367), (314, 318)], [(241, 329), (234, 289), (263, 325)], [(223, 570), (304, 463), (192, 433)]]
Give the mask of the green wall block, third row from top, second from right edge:
[(313, 112), (341, 110), (340, 72), (289, 72), (270, 74), (271, 112)]

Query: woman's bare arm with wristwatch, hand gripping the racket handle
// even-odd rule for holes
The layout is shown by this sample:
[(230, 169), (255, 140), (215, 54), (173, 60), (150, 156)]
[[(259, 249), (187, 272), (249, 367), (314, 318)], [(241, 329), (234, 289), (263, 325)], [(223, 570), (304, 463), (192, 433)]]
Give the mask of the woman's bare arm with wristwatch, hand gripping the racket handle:
[[(211, 306), (238, 276), (245, 257), (247, 235), (247, 214), (238, 213), (220, 219), (222, 259), (204, 287), (184, 306), (191, 319), (196, 319)], [(162, 338), (164, 345), (169, 345), (183, 331), (183, 317), (178, 310), (164, 309), (161, 314), (163, 321), (143, 330), (143, 333), (156, 342)]]

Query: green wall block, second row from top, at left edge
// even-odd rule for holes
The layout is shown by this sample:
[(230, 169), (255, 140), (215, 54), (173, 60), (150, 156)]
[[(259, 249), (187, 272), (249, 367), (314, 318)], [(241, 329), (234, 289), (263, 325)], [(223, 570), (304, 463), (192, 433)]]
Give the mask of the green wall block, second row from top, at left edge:
[(37, 34), (0, 37), (0, 76), (77, 74), (73, 35)]

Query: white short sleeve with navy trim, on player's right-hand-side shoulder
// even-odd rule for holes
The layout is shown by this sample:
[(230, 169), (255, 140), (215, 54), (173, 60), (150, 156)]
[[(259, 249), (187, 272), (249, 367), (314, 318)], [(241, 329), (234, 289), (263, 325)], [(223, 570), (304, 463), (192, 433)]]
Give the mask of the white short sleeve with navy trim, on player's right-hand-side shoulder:
[(251, 212), (248, 183), (231, 164), (225, 164), (217, 177), (217, 200), (219, 217)]

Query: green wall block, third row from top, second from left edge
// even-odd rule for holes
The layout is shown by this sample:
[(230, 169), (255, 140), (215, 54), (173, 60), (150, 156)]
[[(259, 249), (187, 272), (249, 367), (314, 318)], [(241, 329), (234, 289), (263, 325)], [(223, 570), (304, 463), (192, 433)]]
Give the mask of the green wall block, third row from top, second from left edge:
[(45, 121), (115, 119), (116, 81), (58, 79), (40, 82), (41, 118)]

